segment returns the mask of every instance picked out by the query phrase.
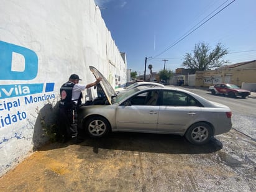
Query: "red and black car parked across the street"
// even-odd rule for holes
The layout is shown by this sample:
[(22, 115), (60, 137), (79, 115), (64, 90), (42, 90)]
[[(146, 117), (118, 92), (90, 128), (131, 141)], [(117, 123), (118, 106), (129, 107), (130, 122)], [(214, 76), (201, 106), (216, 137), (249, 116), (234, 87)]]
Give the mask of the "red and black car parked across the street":
[(209, 86), (209, 91), (211, 91), (212, 94), (225, 94), (226, 96), (232, 98), (235, 98), (236, 96), (246, 98), (250, 95), (250, 91), (240, 89), (239, 86), (230, 83), (221, 83), (214, 86)]

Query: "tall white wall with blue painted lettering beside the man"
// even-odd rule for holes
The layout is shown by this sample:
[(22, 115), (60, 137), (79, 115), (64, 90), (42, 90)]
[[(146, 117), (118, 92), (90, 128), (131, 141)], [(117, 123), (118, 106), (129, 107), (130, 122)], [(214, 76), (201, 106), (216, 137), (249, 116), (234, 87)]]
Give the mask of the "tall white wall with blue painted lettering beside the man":
[(0, 176), (47, 142), (71, 73), (91, 83), (93, 65), (115, 87), (126, 82), (124, 58), (93, 0), (1, 0)]

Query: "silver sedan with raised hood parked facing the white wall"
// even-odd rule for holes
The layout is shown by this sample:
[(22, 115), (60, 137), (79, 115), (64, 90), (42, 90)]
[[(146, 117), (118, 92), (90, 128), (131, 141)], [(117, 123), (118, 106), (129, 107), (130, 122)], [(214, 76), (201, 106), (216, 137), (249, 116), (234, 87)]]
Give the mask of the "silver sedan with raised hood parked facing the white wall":
[(89, 68), (96, 78), (103, 77), (98, 88), (104, 91), (78, 110), (78, 126), (89, 137), (105, 137), (111, 131), (178, 134), (202, 145), (232, 127), (227, 106), (172, 87), (138, 86), (116, 94), (96, 68)]

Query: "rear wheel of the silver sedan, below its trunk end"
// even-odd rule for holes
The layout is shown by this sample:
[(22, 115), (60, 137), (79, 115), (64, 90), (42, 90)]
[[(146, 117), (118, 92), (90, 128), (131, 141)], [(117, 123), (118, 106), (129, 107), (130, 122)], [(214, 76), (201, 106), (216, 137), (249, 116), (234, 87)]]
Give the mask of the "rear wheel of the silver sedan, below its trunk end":
[(205, 122), (193, 124), (186, 131), (186, 139), (194, 145), (203, 145), (209, 142), (213, 136), (213, 129)]

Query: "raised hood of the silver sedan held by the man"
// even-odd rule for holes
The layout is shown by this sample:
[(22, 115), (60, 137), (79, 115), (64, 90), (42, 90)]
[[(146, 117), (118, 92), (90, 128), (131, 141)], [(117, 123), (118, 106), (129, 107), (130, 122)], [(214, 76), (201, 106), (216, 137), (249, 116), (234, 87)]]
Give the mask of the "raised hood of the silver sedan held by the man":
[(99, 78), (99, 77), (103, 78), (103, 80), (101, 80), (99, 84), (101, 85), (101, 88), (103, 89), (107, 97), (107, 100), (109, 101), (110, 104), (112, 104), (111, 97), (116, 95), (116, 91), (114, 91), (114, 88), (112, 88), (109, 81), (107, 81), (104, 75), (102, 75), (101, 72), (99, 72), (94, 66), (89, 66), (89, 70), (91, 70), (95, 78)]

